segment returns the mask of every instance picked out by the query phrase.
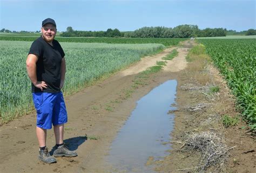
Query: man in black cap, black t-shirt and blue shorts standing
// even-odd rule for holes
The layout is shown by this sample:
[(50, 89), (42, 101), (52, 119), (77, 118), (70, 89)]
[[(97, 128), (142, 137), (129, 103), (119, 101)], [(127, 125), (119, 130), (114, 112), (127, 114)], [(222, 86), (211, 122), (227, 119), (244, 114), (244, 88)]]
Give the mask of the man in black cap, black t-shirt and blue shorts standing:
[[(28, 76), (32, 82), (33, 103), (37, 111), (36, 134), (39, 143), (39, 160), (46, 163), (56, 162), (55, 157), (77, 156), (63, 142), (64, 124), (68, 121), (63, 94), (66, 63), (65, 53), (57, 40), (57, 29), (53, 19), (42, 22), (42, 36), (35, 40), (26, 60)], [(53, 125), (56, 150), (50, 156), (46, 147), (46, 129)]]

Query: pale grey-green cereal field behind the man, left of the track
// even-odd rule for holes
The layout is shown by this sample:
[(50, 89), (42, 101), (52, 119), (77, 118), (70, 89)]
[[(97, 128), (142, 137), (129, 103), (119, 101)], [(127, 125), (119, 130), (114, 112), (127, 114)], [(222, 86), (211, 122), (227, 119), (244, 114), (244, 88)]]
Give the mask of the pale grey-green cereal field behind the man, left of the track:
[[(0, 41), (0, 116), (9, 121), (32, 110), (31, 83), (26, 74), (26, 57), (32, 42)], [(65, 52), (69, 95), (86, 83), (129, 66), (142, 56), (164, 48), (161, 44), (60, 43)]]

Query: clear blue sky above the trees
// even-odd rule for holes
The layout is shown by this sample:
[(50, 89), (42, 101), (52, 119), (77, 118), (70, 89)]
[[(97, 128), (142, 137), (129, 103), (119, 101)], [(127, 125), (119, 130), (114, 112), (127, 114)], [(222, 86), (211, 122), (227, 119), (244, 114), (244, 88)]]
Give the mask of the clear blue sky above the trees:
[(40, 30), (42, 20), (53, 18), (58, 31), (134, 31), (143, 26), (182, 24), (244, 31), (256, 25), (256, 0), (0, 0), (0, 29)]

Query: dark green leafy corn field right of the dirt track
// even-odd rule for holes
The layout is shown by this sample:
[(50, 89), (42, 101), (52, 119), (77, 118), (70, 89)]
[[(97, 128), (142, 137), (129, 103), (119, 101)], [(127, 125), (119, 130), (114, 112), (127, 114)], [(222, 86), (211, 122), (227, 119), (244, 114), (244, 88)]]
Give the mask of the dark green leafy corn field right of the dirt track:
[(256, 40), (201, 39), (220, 73), (224, 75), (238, 109), (256, 128)]

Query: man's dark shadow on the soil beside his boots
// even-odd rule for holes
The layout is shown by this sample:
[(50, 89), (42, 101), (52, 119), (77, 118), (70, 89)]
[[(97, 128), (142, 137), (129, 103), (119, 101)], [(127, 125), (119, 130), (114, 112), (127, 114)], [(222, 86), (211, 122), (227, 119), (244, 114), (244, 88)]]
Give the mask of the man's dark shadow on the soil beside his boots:
[[(71, 150), (77, 150), (78, 146), (84, 143), (87, 140), (87, 136), (78, 136), (70, 139), (65, 139), (65, 145)], [(50, 151), (50, 155), (53, 155), (54, 150), (56, 150), (56, 146), (52, 147)]]

